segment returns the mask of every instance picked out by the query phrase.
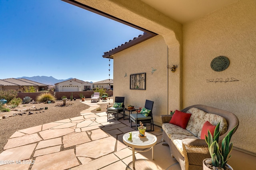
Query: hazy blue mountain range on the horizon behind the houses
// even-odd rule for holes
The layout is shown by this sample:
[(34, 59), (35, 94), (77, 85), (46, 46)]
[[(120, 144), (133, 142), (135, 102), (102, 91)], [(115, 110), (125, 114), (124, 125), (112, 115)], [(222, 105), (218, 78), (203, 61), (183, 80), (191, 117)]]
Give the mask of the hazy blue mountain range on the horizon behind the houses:
[[(64, 82), (66, 80), (70, 80), (70, 79), (73, 79), (73, 78), (68, 78), (66, 80), (58, 80), (52, 76), (48, 77), (48, 76), (33, 76), (33, 77), (19, 77), (19, 78), (25, 78), (25, 79), (28, 79), (28, 80), (31, 80), (31, 81), (34, 81), (34, 82), (38, 82), (38, 83), (42, 83), (42, 84), (47, 84), (47, 85), (53, 85), (56, 84), (56, 83), (59, 83), (59, 82)], [(18, 79), (18, 78), (17, 78)]]

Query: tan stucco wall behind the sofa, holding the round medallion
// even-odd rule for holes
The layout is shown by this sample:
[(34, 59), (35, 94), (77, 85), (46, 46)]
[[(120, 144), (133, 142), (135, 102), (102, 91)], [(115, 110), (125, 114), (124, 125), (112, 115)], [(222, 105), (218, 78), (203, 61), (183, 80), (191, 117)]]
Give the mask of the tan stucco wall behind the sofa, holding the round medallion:
[[(205, 104), (239, 118), (235, 147), (256, 153), (256, 1), (245, 0), (183, 27), (183, 107)], [(212, 59), (226, 56), (229, 67), (216, 72)], [(234, 82), (207, 82), (208, 79)]]

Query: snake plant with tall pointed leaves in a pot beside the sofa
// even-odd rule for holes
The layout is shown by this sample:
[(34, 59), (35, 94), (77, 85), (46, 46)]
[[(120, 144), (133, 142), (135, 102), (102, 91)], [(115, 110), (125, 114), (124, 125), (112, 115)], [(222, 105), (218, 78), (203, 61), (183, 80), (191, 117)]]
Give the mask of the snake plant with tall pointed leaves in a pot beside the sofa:
[(220, 136), (220, 123), (216, 125), (213, 136), (209, 130), (208, 137), (204, 135), (211, 155), (211, 159), (206, 158), (203, 160), (203, 170), (212, 170), (213, 168), (209, 168), (211, 166), (219, 167), (220, 169), (223, 168), (233, 170), (233, 168), (229, 166), (227, 162), (231, 157), (231, 155), (229, 154), (233, 148), (233, 143), (230, 143), (230, 140), (233, 135), (233, 131), (236, 129), (236, 126), (222, 140), (221, 149), (218, 144)]

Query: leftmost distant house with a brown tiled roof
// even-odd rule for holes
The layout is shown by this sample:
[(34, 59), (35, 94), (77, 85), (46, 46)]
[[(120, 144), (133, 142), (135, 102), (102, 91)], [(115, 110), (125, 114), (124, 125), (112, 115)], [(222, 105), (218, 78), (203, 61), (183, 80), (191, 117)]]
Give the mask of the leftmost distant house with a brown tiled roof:
[(0, 90), (17, 90), (18, 92), (21, 92), (22, 88), (29, 88), (30, 86), (33, 86), (36, 92), (48, 89), (48, 85), (46, 84), (34, 82), (25, 78), (0, 79)]

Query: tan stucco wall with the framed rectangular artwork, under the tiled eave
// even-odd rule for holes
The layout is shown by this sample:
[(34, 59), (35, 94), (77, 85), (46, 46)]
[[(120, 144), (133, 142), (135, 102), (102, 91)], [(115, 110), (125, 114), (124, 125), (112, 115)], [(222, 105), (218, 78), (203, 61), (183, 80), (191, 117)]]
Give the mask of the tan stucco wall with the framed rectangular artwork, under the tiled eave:
[[(154, 124), (161, 125), (160, 115), (166, 114), (167, 46), (158, 35), (114, 55), (114, 96), (124, 96), (125, 107), (144, 107), (154, 101)], [(156, 69), (153, 74), (152, 67)], [(130, 74), (146, 72), (146, 90), (130, 90)], [(127, 76), (125, 76), (127, 74)]]

